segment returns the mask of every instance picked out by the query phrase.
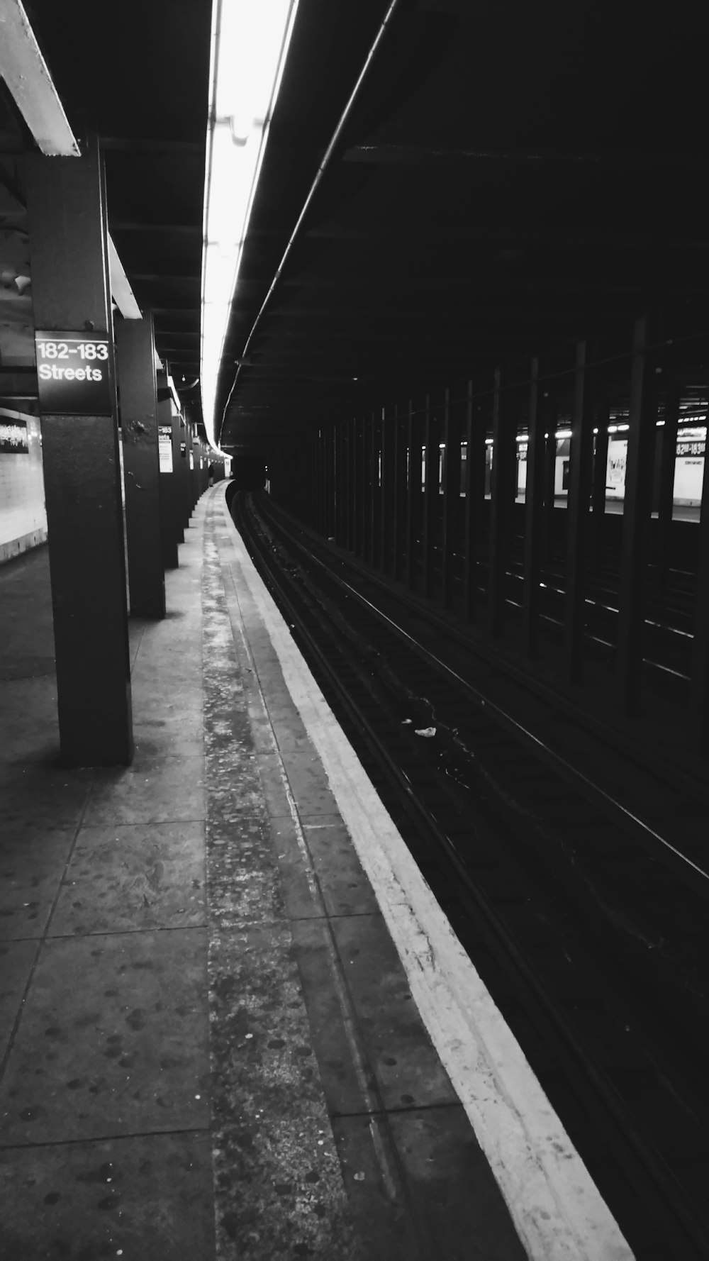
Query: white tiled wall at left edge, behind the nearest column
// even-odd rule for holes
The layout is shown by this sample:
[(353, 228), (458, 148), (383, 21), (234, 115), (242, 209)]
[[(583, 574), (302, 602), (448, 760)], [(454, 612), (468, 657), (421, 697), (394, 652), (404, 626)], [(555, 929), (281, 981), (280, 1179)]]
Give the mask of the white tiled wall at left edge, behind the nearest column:
[(0, 564), (47, 538), (39, 419), (1, 409), (0, 419), (26, 422), (29, 453), (0, 451)]

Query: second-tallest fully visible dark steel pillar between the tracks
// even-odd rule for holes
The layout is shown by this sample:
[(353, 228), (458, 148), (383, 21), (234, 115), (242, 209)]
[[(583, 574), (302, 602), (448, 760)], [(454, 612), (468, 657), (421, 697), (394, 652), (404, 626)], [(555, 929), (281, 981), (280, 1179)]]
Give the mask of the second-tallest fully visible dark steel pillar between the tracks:
[(578, 342), (571, 406), (564, 600), (564, 670), (571, 682), (580, 678), (585, 630), (585, 562), (594, 421), (593, 380), (587, 359), (587, 343)]

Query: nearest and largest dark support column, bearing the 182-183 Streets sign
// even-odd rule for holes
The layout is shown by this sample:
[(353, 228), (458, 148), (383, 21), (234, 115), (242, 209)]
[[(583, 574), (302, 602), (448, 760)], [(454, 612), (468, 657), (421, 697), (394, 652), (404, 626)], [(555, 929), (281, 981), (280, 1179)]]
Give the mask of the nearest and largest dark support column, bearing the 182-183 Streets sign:
[[(25, 164), (35, 328), (74, 332), (85, 340), (95, 335), (108, 356), (92, 366), (108, 376), (100, 407), (85, 405), (74, 391), (67, 406), (57, 397), (43, 400), (42, 383), (39, 392), (59, 739), (67, 765), (129, 765), (132, 718), (106, 189), (97, 137), (82, 150), (82, 158), (33, 154)], [(87, 347), (85, 354), (88, 359)]]

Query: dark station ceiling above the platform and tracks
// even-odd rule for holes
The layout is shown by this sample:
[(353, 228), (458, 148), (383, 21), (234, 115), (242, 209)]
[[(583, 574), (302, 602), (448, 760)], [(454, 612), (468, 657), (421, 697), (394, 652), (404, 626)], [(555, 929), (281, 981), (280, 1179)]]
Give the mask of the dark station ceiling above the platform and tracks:
[[(98, 129), (111, 235), (196, 419), (211, 5), (26, 9), (69, 121)], [(647, 304), (667, 334), (709, 328), (708, 37), (709, 9), (683, 0), (300, 0), (222, 363), (225, 449), (267, 459), (501, 357), (570, 366), (583, 335), (627, 348)], [(21, 127), (0, 112), (11, 180)]]

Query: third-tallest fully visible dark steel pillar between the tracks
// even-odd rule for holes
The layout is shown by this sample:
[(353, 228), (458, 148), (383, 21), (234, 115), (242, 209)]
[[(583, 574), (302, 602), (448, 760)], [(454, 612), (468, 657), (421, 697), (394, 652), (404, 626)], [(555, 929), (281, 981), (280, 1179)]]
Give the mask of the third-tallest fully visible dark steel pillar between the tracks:
[(527, 657), (539, 652), (539, 584), (544, 536), (544, 407), (539, 390), (539, 359), (531, 361), (525, 491), (525, 580), (522, 585), (522, 642)]

